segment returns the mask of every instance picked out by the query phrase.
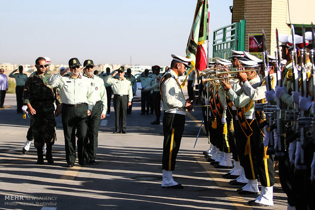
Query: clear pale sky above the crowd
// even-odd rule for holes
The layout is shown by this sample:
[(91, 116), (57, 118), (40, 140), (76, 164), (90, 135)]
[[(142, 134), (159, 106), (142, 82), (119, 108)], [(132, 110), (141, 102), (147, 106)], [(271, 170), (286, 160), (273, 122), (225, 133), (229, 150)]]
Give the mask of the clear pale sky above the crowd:
[[(169, 65), (172, 53), (185, 56), (196, 4), (0, 0), (0, 63), (33, 64), (37, 57), (48, 56), (53, 64), (77, 57), (81, 63), (92, 59), (96, 64)], [(210, 0), (210, 46), (213, 29), (231, 24), (231, 5), (232, 0)]]

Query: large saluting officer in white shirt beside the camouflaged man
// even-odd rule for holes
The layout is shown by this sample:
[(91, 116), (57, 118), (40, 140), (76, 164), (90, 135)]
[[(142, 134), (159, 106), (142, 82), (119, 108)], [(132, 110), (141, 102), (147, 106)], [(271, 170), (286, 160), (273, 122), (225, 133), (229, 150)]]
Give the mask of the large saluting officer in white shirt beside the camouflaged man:
[[(80, 74), (80, 61), (78, 58), (69, 60), (69, 69), (64, 69), (53, 75), (48, 84), (60, 88), (62, 101), (61, 118), (64, 128), (66, 167), (73, 167), (76, 161), (76, 136), (78, 138), (78, 162), (84, 165), (84, 139), (87, 132), (87, 116), (91, 114), (93, 102), (92, 85), (88, 78)], [(77, 131), (76, 131), (77, 129)], [(75, 132), (76, 131), (76, 132)]]

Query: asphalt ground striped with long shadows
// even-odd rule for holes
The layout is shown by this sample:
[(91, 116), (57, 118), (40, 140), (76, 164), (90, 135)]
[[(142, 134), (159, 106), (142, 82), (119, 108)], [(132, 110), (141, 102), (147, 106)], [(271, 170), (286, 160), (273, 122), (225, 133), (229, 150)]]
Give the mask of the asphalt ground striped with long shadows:
[[(163, 189), (163, 126), (151, 125), (154, 114), (140, 115), (133, 103), (127, 134), (113, 134), (114, 112), (102, 122), (96, 164), (66, 168), (61, 116), (56, 118), (55, 163), (36, 165), (34, 145), (22, 154), (29, 119), (16, 114), (14, 94), (7, 94), (0, 110), (0, 209), (287, 209), (279, 181), (274, 206), (256, 208), (247, 201), (258, 195), (238, 195), (238, 187), (222, 177), (229, 169), (215, 169), (202, 152), (209, 148), (201, 130), (201, 108), (187, 114), (177, 156), (174, 180), (182, 190)], [(161, 119), (162, 122), (162, 119)]]

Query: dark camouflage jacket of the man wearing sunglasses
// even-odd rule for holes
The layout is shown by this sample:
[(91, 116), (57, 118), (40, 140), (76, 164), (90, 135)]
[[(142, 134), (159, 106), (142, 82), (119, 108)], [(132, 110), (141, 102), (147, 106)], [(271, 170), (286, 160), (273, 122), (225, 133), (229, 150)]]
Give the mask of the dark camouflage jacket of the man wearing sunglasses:
[(30, 103), (35, 110), (42, 108), (44, 112), (54, 111), (53, 102), (61, 103), (60, 90), (47, 84), (50, 77), (48, 73), (41, 76), (36, 72), (27, 78), (23, 92), (24, 104)]

